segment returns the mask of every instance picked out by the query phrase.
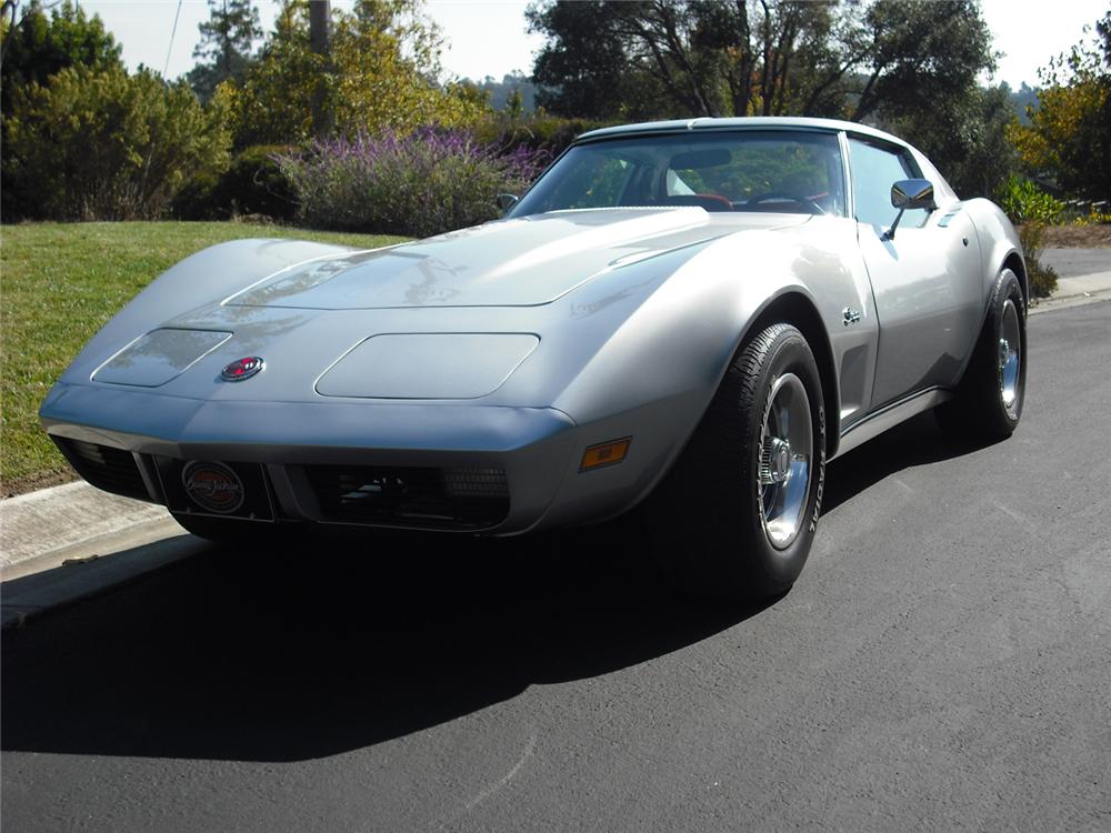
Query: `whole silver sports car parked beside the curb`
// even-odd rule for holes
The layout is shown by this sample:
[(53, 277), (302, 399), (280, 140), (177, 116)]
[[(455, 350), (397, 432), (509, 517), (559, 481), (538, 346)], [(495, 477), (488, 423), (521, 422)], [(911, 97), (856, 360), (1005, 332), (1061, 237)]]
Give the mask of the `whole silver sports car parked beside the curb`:
[(503, 219), (372, 251), (178, 263), (42, 404), (73, 468), (213, 539), (507, 535), (645, 508), (698, 590), (781, 592), (825, 463), (937, 409), (1022, 411), (1014, 229), (919, 151), (814, 119), (578, 139)]

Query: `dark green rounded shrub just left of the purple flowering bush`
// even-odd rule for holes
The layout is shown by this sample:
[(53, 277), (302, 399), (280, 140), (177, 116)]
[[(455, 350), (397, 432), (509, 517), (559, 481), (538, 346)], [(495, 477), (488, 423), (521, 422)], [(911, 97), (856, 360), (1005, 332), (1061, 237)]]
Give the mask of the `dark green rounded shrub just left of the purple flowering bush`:
[(173, 201), (182, 220), (227, 220), (232, 217), (293, 219), (297, 198), (277, 157), (289, 153), (280, 144), (256, 144), (237, 153), (219, 177), (194, 177)]

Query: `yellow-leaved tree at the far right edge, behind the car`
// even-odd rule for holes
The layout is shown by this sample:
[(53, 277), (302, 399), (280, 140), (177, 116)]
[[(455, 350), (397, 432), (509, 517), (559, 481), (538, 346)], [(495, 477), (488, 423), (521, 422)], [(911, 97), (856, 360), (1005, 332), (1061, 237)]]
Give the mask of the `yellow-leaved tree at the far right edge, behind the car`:
[[(1090, 31), (1090, 30), (1088, 30)], [(1111, 11), (1040, 72), (1038, 108), (1011, 136), (1027, 172), (1091, 199), (1111, 195)]]

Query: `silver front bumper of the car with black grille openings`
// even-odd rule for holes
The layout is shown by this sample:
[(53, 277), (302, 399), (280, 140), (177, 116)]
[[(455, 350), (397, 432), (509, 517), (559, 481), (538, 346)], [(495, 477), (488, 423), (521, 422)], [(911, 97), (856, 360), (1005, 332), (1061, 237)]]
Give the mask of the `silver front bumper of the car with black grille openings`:
[(554, 409), (193, 400), (94, 383), (57, 384), (40, 419), (93, 485), (173, 511), (206, 513), (174, 479), (184, 461), (216, 461), (272, 506), (236, 516), (490, 534), (540, 524), (581, 444)]

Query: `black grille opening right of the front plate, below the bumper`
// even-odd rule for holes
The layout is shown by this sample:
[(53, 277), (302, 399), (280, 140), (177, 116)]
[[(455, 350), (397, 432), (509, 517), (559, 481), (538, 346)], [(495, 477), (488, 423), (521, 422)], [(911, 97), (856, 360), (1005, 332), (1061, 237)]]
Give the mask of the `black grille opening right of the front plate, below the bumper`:
[(509, 514), (501, 469), (311, 465), (306, 472), (329, 521), (483, 529)]

